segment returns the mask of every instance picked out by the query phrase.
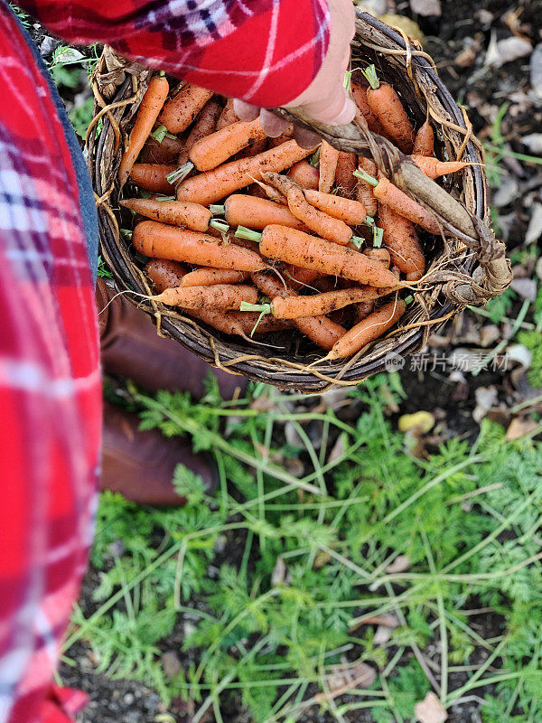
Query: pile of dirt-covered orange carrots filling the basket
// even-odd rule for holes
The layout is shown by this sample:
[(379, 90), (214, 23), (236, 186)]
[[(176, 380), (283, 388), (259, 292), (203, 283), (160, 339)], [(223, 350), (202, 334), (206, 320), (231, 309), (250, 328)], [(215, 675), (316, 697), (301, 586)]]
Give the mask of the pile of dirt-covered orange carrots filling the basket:
[[(433, 128), (414, 127), (374, 66), (350, 79), (350, 94), (356, 122), (429, 177), (466, 165), (435, 158)], [(441, 230), (371, 158), (325, 141), (304, 149), (292, 133), (267, 138), (231, 99), (189, 83), (173, 93), (156, 74), (126, 139), (120, 204), (154, 300), (248, 342), (277, 345), (296, 329), (325, 359), (344, 359), (405, 313)]]

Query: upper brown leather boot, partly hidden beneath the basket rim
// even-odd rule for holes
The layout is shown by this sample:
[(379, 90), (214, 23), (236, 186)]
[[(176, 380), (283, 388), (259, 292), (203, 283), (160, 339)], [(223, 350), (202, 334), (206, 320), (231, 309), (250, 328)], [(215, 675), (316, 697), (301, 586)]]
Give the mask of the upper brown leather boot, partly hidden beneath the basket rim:
[(247, 380), (238, 374), (214, 369), (172, 339), (156, 333), (149, 317), (124, 296), (98, 278), (96, 302), (100, 329), (101, 361), (104, 371), (134, 380), (148, 391), (189, 391), (194, 399), (204, 394), (203, 380), (211, 371), (219, 380), (220, 393), (231, 399)]

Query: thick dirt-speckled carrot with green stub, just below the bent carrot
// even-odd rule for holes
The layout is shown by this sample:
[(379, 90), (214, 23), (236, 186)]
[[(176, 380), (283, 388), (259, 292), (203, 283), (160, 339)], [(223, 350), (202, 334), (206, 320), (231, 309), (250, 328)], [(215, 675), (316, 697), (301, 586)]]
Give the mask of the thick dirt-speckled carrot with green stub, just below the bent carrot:
[(304, 231), (271, 224), (261, 233), (239, 228), (237, 235), (259, 240), (260, 251), (266, 258), (277, 258), (287, 264), (313, 268), (327, 276), (350, 278), (377, 288), (397, 284), (396, 277), (377, 261)]

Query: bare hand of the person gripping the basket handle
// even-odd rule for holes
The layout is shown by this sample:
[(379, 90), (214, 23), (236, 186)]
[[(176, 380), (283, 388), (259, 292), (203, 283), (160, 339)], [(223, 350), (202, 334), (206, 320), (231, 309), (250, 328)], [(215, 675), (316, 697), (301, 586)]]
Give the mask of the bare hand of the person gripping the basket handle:
[[(338, 126), (350, 123), (356, 110), (343, 85), (350, 61), (350, 41), (355, 31), (355, 12), (351, 0), (328, 0), (328, 5), (331, 14), (330, 43), (322, 67), (310, 86), (286, 103), (285, 108), (303, 108), (306, 115), (314, 120)], [(234, 100), (234, 109), (241, 120), (254, 120), (259, 115), (266, 135), (272, 138), (280, 136), (288, 127), (284, 118), (243, 100)], [(300, 146), (314, 146), (317, 137), (305, 128), (294, 129), (294, 138)]]

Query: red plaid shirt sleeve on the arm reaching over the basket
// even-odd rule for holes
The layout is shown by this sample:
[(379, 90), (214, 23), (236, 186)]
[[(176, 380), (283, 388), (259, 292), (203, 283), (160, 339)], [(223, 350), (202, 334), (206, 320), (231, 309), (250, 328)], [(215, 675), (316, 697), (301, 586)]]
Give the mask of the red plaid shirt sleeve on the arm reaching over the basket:
[(264, 108), (309, 86), (329, 42), (326, 0), (19, 2), (70, 42), (107, 42), (127, 57)]

